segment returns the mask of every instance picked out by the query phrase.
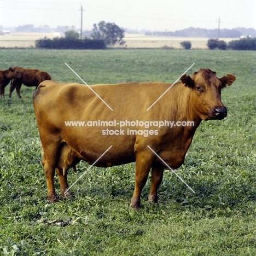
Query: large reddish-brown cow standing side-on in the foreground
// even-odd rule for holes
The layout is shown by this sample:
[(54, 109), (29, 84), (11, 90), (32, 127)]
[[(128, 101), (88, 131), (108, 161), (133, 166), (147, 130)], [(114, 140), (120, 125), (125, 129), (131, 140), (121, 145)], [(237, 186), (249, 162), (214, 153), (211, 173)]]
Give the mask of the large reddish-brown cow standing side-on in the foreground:
[[(91, 89), (113, 111), (85, 85), (44, 81), (34, 92), (33, 104), (45, 155), (43, 166), (48, 200), (57, 201), (54, 189), (55, 165), (61, 143), (65, 142), (90, 165), (95, 161), (95, 166), (100, 167), (135, 161), (135, 190), (131, 199), (131, 206), (135, 209), (141, 207), (141, 191), (152, 168), (148, 198), (150, 202), (157, 202), (157, 190), (167, 167), (155, 153), (171, 168), (181, 166), (201, 120), (226, 117), (227, 110), (221, 101), (220, 91), (235, 79), (232, 74), (217, 78), (216, 72), (202, 68), (191, 77), (183, 75), (182, 82), (174, 84), (149, 110), (149, 106), (171, 84), (144, 82), (91, 85)], [(163, 126), (163, 123), (168, 124), (167, 120), (174, 121), (174, 125)], [(72, 125), (68, 121), (84, 123)], [(156, 121), (161, 121), (161, 126), (156, 126)], [(190, 124), (193, 122), (194, 126), (181, 125), (188, 121)], [(102, 127), (103, 124), (108, 125), (108, 128)], [(130, 127), (123, 130), (120, 124)], [(112, 148), (103, 154), (109, 146)], [(66, 175), (57, 174), (61, 191), (67, 190)]]

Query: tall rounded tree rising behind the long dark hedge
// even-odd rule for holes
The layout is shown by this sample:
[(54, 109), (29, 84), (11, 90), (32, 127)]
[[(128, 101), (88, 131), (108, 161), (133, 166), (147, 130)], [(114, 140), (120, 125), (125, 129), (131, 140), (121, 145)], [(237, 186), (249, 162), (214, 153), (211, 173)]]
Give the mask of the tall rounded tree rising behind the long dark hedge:
[(91, 37), (93, 39), (103, 39), (106, 45), (125, 44), (123, 40), (124, 30), (114, 23), (101, 21), (98, 23), (98, 26), (94, 24), (92, 31)]

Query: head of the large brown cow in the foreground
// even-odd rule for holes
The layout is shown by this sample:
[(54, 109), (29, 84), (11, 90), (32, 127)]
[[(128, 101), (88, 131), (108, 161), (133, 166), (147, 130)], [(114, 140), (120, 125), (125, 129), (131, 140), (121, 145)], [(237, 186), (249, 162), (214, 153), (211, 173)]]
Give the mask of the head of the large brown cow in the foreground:
[(194, 112), (202, 119), (223, 119), (227, 115), (226, 107), (220, 98), (221, 90), (236, 80), (235, 75), (226, 74), (222, 78), (216, 77), (216, 72), (208, 68), (201, 68), (191, 77), (183, 75), (182, 83), (191, 90), (191, 102)]

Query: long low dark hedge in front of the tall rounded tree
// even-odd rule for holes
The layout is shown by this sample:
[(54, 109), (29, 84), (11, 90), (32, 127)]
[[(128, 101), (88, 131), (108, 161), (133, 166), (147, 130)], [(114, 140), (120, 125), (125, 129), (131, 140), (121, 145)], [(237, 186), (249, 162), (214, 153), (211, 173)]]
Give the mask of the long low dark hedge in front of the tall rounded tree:
[(105, 49), (104, 40), (94, 39), (69, 39), (69, 38), (43, 38), (36, 40), (37, 48), (47, 49)]

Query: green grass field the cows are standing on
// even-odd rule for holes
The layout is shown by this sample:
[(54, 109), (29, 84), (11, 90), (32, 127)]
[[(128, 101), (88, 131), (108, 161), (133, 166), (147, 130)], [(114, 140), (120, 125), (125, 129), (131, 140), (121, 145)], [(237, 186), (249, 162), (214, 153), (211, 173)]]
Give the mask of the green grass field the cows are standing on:
[[(49, 203), (40, 164), (32, 88), (0, 99), (0, 255), (256, 255), (256, 53), (211, 50), (0, 50), (0, 69), (38, 68), (57, 82), (174, 82), (202, 67), (236, 75), (222, 92), (224, 120), (202, 121), (176, 170), (165, 171), (159, 203), (129, 206), (135, 164), (93, 167), (74, 200)], [(114, 97), (114, 95), (113, 95)], [(72, 184), (86, 171), (69, 170)], [(150, 177), (149, 177), (150, 181)], [(59, 184), (55, 179), (57, 193)]]

